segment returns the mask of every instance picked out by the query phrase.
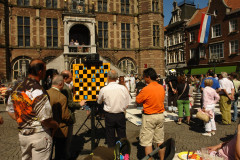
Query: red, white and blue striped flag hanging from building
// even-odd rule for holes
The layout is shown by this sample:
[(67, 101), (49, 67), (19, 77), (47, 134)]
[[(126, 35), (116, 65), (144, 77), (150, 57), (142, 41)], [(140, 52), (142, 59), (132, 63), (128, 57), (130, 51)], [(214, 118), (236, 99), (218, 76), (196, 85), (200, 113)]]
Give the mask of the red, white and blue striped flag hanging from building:
[(201, 25), (198, 33), (198, 42), (199, 43), (207, 43), (208, 35), (211, 24), (211, 16), (207, 14), (202, 14)]

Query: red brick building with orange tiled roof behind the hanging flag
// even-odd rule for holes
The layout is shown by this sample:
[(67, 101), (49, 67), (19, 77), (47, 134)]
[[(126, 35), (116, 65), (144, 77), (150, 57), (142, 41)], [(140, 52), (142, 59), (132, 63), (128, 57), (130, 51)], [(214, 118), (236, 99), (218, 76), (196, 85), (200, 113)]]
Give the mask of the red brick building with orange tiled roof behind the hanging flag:
[[(208, 43), (197, 42), (202, 13), (211, 15)], [(210, 0), (188, 22), (186, 40), (186, 73), (205, 74), (215, 68), (217, 74), (239, 71), (240, 66), (240, 3), (239, 0)]]

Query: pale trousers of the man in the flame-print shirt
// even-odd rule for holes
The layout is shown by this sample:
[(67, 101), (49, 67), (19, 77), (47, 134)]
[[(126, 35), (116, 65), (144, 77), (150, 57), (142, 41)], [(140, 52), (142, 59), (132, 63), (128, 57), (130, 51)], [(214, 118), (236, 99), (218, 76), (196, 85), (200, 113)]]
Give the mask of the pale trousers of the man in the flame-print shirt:
[(19, 133), (22, 160), (49, 160), (52, 137), (46, 132), (22, 135)]

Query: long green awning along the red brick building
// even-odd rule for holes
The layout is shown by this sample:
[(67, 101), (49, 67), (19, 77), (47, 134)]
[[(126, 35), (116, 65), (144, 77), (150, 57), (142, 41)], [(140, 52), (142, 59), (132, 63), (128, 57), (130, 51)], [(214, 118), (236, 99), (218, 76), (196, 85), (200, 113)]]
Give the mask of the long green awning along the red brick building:
[[(214, 70), (214, 67), (210, 68), (195, 68), (191, 70), (191, 75), (201, 75), (206, 74), (209, 69)], [(221, 72), (227, 72), (228, 74), (236, 72), (237, 66), (225, 66), (225, 67), (216, 67), (215, 73), (221, 74)]]

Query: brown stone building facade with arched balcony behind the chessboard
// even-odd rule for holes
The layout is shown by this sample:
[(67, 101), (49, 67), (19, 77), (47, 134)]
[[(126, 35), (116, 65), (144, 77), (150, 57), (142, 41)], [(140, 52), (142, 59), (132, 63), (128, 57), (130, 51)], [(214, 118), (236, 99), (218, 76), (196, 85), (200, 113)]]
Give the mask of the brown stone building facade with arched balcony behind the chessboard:
[(58, 65), (72, 69), (92, 53), (125, 73), (141, 74), (152, 67), (164, 75), (163, 0), (4, 2), (0, 0), (0, 8), (5, 4), (6, 9), (0, 10), (0, 31), (8, 21), (9, 31), (0, 32), (0, 62), (8, 79), (26, 76), (33, 58), (51, 63), (63, 57)]

